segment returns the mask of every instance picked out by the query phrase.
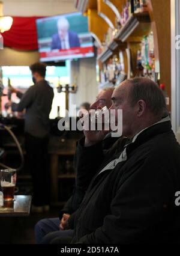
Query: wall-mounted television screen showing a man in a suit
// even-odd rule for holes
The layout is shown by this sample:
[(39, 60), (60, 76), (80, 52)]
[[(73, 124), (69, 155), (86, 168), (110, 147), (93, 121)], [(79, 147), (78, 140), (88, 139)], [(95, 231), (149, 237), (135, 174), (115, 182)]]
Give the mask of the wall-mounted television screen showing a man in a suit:
[(37, 19), (40, 61), (94, 56), (88, 18), (81, 13), (69, 13)]

